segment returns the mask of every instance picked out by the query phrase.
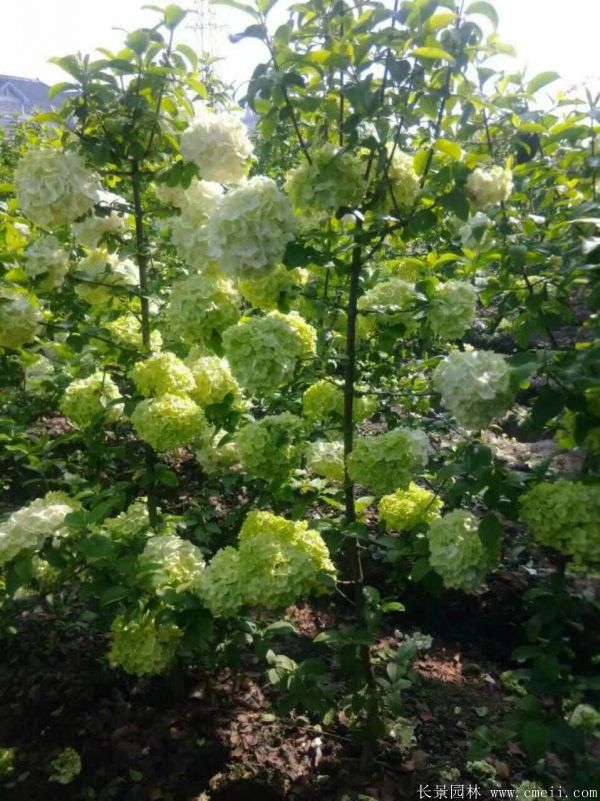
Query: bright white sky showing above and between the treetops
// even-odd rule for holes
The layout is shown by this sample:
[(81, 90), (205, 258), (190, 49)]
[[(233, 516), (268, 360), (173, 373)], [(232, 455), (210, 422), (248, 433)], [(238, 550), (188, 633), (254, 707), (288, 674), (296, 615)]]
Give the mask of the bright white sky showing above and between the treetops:
[[(161, 0), (145, 0), (165, 5)], [(392, 0), (384, 0), (389, 2)], [(285, 15), (288, 0), (279, 0), (274, 21)], [(499, 17), (498, 32), (518, 52), (515, 67), (526, 67), (534, 75), (554, 70), (563, 77), (562, 87), (586, 81), (600, 88), (598, 30), (599, 0), (492, 0)], [(117, 50), (122, 46), (123, 30), (142, 27), (155, 17), (142, 10), (144, 0), (4, 0), (0, 27), (0, 74), (39, 78), (47, 83), (66, 76), (48, 59), (78, 50), (93, 53), (98, 46)], [(207, 0), (179, 0), (183, 7)], [(257, 40), (231, 44), (230, 33), (250, 24), (241, 12), (212, 7), (212, 35), (205, 40), (220, 56), (222, 76), (243, 94), (244, 82), (255, 64), (264, 57), (264, 46)], [(206, 15), (205, 15), (206, 16)], [(182, 40), (200, 48), (201, 32), (190, 15), (184, 23)], [(483, 20), (483, 18), (479, 18)]]

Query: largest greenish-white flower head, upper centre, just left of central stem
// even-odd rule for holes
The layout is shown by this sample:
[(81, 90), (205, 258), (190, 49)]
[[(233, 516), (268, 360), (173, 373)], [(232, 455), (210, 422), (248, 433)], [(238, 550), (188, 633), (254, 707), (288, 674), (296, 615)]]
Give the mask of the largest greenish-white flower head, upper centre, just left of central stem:
[(255, 275), (281, 262), (294, 230), (287, 197), (270, 178), (256, 176), (216, 205), (207, 224), (207, 252), (224, 272)]

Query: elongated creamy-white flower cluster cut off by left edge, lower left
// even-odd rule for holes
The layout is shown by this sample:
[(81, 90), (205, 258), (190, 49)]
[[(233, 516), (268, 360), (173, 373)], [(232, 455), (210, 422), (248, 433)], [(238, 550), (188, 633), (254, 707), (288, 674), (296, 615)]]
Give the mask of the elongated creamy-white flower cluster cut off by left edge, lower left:
[(0, 565), (22, 551), (39, 550), (46, 537), (62, 536), (66, 516), (77, 508), (78, 504), (64, 492), (48, 492), (13, 512), (0, 525)]

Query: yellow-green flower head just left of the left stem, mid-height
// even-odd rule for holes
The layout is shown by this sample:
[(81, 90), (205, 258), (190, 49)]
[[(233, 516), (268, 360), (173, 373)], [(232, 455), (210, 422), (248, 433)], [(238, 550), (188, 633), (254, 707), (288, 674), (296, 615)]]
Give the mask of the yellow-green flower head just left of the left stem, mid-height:
[(72, 381), (60, 401), (60, 410), (69, 420), (87, 428), (101, 415), (107, 423), (114, 423), (123, 414), (119, 388), (112, 378), (98, 370), (87, 378)]

